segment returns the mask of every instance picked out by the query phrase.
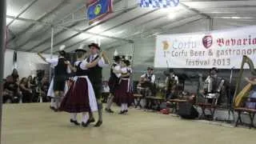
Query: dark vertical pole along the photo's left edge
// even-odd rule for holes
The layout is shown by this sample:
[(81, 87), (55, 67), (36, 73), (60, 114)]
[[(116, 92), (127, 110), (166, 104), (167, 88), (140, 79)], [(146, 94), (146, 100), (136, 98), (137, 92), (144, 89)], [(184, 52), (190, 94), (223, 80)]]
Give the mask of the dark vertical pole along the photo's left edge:
[(1, 144), (1, 140), (2, 140), (2, 86), (3, 86), (3, 69), (4, 69), (4, 52), (6, 49), (6, 0), (2, 0), (0, 2), (0, 34), (1, 34), (1, 43), (0, 43), (0, 85), (1, 85), (1, 89), (0, 89), (0, 144)]

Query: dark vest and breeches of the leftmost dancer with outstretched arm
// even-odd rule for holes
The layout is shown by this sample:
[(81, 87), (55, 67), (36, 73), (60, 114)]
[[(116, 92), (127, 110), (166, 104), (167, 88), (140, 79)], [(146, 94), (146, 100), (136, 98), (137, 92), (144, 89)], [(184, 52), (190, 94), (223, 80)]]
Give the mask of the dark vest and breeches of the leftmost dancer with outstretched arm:
[(54, 91), (64, 91), (67, 65), (66, 58), (58, 58), (58, 65), (54, 67)]

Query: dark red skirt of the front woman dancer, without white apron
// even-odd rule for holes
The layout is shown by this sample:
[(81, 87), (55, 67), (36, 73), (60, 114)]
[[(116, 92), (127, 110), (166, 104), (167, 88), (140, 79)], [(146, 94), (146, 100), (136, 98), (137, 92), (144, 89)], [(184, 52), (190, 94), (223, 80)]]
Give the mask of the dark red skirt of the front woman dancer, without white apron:
[(90, 111), (90, 101), (86, 78), (78, 80), (70, 86), (62, 100), (60, 110), (68, 113), (81, 113)]

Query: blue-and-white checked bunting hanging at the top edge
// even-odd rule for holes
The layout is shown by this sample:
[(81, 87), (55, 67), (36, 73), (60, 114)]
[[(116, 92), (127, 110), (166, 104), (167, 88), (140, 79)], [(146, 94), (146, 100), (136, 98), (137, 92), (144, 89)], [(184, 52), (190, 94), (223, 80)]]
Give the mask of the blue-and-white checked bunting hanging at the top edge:
[(178, 6), (179, 0), (138, 0), (139, 6), (144, 8), (170, 8)]

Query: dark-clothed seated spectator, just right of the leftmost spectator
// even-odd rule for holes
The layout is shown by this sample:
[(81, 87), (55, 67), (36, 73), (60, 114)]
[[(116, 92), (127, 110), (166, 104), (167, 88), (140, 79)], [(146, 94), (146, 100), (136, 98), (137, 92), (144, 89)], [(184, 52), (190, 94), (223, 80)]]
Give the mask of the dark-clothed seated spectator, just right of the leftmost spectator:
[(32, 89), (30, 89), (28, 86), (27, 78), (22, 78), (19, 88), (22, 92), (22, 102), (32, 102)]

